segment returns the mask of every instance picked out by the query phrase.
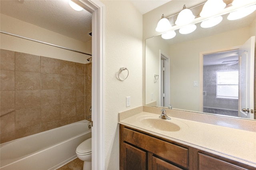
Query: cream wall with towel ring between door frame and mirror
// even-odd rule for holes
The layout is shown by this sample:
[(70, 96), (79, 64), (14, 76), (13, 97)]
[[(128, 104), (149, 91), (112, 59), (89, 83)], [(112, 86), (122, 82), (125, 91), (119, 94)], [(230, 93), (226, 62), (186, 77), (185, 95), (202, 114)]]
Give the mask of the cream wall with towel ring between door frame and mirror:
[[(105, 5), (105, 168), (119, 169), (118, 112), (142, 105), (142, 14), (128, 0)], [(119, 81), (120, 67), (129, 76)], [(126, 107), (126, 96), (131, 106)]]

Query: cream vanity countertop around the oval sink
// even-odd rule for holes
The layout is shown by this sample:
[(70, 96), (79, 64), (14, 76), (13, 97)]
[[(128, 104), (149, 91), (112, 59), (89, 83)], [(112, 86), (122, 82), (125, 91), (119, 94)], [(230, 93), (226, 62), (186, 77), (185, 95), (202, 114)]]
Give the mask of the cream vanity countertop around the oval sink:
[[(119, 123), (256, 167), (256, 132), (174, 117), (170, 117), (172, 120), (158, 117), (159, 114), (141, 112)], [(152, 128), (140, 121), (144, 118), (171, 121), (180, 130), (171, 132)]]

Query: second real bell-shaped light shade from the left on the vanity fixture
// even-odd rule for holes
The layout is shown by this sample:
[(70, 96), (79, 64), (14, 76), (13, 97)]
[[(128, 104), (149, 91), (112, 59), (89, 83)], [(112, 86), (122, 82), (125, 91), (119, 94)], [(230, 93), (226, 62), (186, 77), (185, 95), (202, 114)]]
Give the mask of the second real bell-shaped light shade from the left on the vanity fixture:
[(177, 26), (184, 26), (186, 24), (190, 24), (195, 19), (192, 11), (187, 9), (186, 6), (183, 6), (183, 10), (178, 14), (177, 20), (175, 24)]

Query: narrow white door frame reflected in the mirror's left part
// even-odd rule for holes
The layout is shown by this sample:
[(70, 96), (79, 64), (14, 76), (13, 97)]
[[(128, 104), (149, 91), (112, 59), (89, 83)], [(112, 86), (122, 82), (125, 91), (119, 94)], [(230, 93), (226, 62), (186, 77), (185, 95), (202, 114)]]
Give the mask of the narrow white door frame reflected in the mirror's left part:
[[(162, 79), (161, 79), (161, 77), (162, 77), (162, 75), (161, 75), (161, 59), (164, 59), (166, 62), (164, 62), (165, 63), (165, 65), (164, 65), (164, 68), (165, 68), (165, 71), (164, 71), (164, 85), (165, 85), (165, 97), (164, 97), (164, 103), (166, 104), (166, 106), (165, 107), (168, 107), (168, 105), (170, 105), (170, 57), (167, 55), (167, 54), (165, 54), (163, 51), (161, 51), (161, 50), (159, 50), (159, 73), (160, 73), (160, 75), (159, 75), (159, 102), (161, 103), (161, 105), (162, 105), (162, 100), (161, 100), (161, 97), (162, 97), (162, 93), (161, 93), (161, 88), (162, 88), (162, 86), (161, 86), (161, 82), (162, 82)], [(166, 95), (167, 94), (167, 95)]]

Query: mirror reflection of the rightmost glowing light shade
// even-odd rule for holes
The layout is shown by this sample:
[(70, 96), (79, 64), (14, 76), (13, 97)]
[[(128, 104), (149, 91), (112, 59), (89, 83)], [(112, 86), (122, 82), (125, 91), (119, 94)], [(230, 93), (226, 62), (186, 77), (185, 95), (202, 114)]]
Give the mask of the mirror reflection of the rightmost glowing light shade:
[(255, 10), (256, 10), (256, 5), (238, 9), (237, 11), (230, 12), (230, 14), (228, 15), (228, 20), (238, 20), (240, 18), (244, 18), (245, 16), (248, 16)]

